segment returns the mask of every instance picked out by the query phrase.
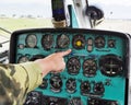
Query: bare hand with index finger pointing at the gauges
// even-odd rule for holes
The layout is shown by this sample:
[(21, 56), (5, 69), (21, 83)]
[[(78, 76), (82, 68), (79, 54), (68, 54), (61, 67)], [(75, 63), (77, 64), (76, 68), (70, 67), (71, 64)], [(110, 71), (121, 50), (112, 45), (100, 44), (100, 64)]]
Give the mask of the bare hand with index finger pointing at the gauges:
[(38, 63), (43, 70), (43, 75), (48, 72), (61, 72), (66, 68), (66, 62), (63, 57), (69, 55), (71, 49), (60, 52), (55, 52), (47, 56), (44, 59), (38, 59), (35, 62)]

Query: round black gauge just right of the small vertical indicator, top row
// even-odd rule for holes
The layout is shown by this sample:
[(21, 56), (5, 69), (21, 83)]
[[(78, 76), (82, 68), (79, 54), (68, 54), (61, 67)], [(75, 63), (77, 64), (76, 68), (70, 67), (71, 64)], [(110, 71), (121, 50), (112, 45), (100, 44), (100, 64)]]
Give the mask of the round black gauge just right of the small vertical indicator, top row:
[(98, 36), (95, 38), (95, 46), (97, 48), (103, 48), (105, 47), (105, 38), (103, 36)]

